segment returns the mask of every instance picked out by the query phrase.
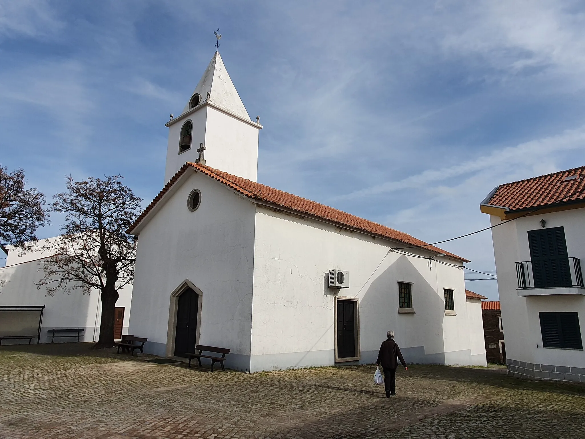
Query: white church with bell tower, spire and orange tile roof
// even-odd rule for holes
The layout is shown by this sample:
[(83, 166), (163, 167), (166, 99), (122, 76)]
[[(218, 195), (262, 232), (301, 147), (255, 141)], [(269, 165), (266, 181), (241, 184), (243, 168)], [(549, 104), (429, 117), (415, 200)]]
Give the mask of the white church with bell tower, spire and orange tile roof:
[(262, 126), (219, 53), (166, 125), (168, 183), (129, 230), (145, 352), (229, 348), (250, 372), (372, 363), (394, 330), (407, 362), (486, 365), (469, 261), (256, 182)]

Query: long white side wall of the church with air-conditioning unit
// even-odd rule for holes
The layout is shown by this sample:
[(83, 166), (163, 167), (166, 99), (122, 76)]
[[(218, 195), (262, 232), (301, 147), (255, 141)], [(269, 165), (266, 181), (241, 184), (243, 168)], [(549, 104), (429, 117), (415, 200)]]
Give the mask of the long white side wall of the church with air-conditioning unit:
[[(409, 362), (485, 364), (485, 350), (472, 347), (472, 337), (483, 339), (483, 324), (481, 311), (479, 325), (469, 324), (463, 270), (387, 255), (393, 246), (403, 245), (258, 207), (251, 370), (333, 363), (334, 295), (325, 286), (332, 268), (349, 271), (350, 288), (339, 297), (359, 299), (361, 362), (376, 360), (391, 329)], [(397, 281), (413, 283), (416, 314), (398, 314)], [(443, 288), (455, 291), (457, 315), (445, 315)]]

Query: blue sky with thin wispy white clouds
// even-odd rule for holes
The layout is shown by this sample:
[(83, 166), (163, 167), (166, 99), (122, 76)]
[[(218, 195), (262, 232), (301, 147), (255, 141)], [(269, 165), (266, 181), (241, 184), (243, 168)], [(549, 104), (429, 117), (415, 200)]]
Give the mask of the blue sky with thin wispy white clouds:
[[(585, 164), (583, 2), (409, 3), (0, 0), (0, 162), (48, 198), (121, 173), (147, 204), (221, 28), (269, 186), (433, 242), (487, 227), (494, 186)], [(490, 232), (443, 248), (494, 270)]]

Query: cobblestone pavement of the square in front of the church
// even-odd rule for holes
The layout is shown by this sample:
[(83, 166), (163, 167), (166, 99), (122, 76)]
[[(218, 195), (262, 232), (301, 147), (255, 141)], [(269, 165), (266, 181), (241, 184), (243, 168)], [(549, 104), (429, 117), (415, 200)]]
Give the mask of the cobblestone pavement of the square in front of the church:
[(577, 438), (585, 387), (501, 369), (398, 369), (398, 396), (372, 366), (209, 373), (91, 351), (0, 348), (2, 438)]

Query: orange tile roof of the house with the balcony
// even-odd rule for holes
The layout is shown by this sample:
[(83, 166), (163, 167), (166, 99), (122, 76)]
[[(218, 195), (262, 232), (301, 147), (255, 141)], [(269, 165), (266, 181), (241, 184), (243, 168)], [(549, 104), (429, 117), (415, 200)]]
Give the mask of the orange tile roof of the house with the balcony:
[(482, 204), (514, 211), (574, 201), (585, 201), (585, 166), (502, 184)]

